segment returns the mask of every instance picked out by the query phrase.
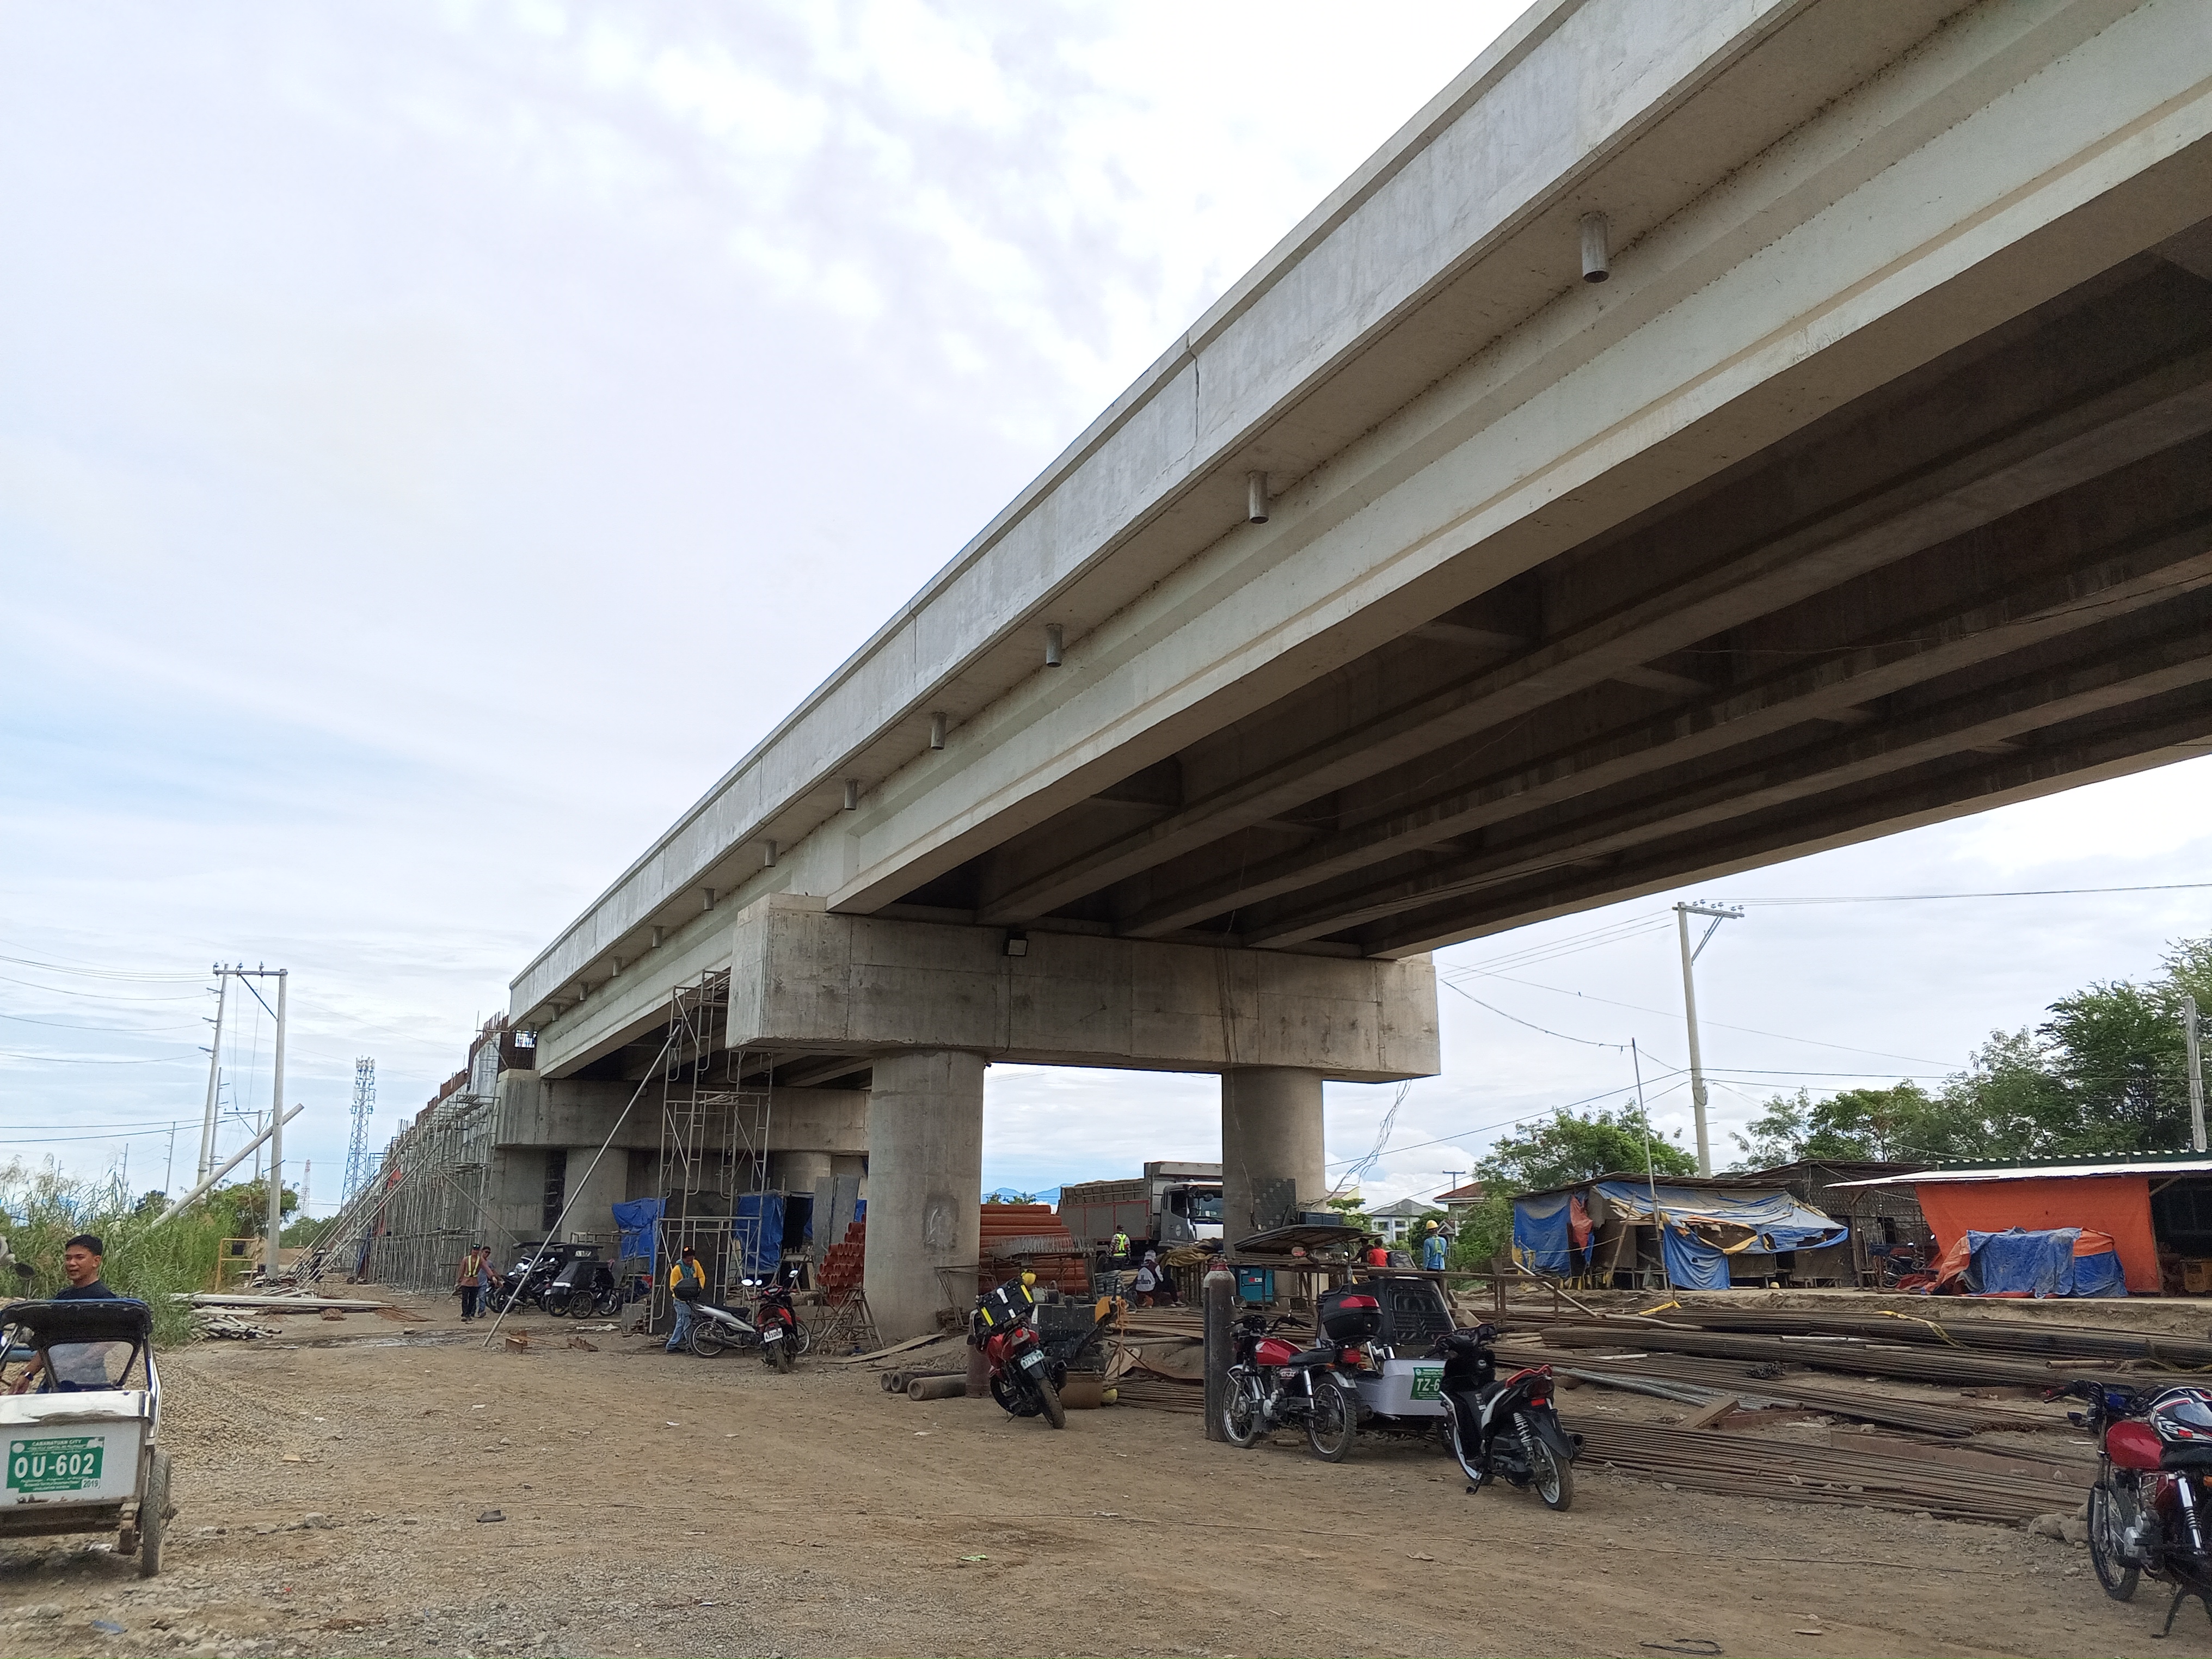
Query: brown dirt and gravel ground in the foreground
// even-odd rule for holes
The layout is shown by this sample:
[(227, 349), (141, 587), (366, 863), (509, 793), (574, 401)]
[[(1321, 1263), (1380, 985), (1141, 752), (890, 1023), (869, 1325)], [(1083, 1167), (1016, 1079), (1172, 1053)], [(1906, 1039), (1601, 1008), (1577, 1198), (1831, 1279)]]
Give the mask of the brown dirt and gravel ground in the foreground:
[[(739, 1659), (953, 1655), (2037, 1655), (2212, 1648), (2066, 1544), (1577, 1467), (1573, 1511), (1464, 1493), (1429, 1447), (1345, 1464), (1190, 1413), (914, 1405), (865, 1365), (666, 1356), (526, 1321), (288, 1318), (164, 1358), (179, 1515), (0, 1544), (0, 1655)], [(476, 1338), (482, 1327), (467, 1327)], [(958, 1347), (953, 1349), (958, 1354)], [(1666, 1409), (1577, 1389), (1577, 1413)], [(498, 1511), (504, 1520), (480, 1520)], [(314, 1517), (314, 1520), (310, 1520)], [(1666, 1646), (1661, 1646), (1666, 1644)], [(1712, 1644), (1712, 1646), (1701, 1646)]]

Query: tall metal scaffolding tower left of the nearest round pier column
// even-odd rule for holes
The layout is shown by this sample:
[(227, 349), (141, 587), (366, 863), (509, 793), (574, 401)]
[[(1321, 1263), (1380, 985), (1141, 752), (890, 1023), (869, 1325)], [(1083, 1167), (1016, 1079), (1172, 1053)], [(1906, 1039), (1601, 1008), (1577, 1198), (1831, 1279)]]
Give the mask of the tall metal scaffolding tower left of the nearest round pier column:
[[(781, 1254), (763, 1239), (772, 1057), (728, 1048), (730, 971), (714, 969), (668, 998), (661, 1057), (661, 1217), (655, 1225), (653, 1329), (675, 1321), (668, 1263), (692, 1248), (706, 1265), (708, 1301), (728, 1303), (748, 1263)], [(759, 1082), (754, 1082), (754, 1077)]]

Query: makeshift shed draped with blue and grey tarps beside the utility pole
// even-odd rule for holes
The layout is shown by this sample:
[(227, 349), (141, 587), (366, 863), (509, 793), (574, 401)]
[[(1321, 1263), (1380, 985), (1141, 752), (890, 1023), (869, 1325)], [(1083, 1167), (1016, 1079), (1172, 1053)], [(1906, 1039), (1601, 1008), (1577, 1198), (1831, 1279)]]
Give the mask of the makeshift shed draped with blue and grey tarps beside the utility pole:
[(1770, 1181), (1604, 1175), (1513, 1199), (1513, 1252), (1601, 1285), (1856, 1283), (1849, 1228)]

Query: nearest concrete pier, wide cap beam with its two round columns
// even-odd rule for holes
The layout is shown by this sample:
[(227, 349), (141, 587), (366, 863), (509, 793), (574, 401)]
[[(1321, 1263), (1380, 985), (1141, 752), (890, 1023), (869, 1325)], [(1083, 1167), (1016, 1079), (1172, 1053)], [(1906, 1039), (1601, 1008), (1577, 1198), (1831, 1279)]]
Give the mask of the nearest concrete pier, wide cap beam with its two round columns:
[[(1425, 956), (1219, 951), (1088, 933), (834, 916), (770, 896), (732, 929), (730, 1046), (865, 1055), (865, 1290), (878, 1334), (931, 1329), (973, 1292), (982, 1079), (993, 1060), (1214, 1071), (1230, 1217), (1281, 1179), (1323, 1192), (1323, 1082), (1438, 1071)], [(796, 1091), (803, 1093), (803, 1091)]]

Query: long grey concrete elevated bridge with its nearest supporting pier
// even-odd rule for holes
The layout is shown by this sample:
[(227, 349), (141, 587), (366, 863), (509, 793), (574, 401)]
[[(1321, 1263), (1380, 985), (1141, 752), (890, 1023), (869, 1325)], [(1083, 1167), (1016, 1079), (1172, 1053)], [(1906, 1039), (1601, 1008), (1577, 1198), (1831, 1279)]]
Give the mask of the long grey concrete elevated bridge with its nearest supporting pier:
[(2208, 135), (2201, 0), (1535, 4), (515, 978), (518, 1121), (728, 969), (896, 1336), (989, 1060), (1221, 1073), (1234, 1232), (1440, 945), (2201, 752)]

